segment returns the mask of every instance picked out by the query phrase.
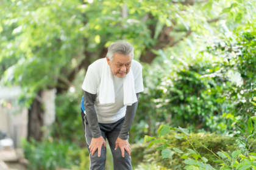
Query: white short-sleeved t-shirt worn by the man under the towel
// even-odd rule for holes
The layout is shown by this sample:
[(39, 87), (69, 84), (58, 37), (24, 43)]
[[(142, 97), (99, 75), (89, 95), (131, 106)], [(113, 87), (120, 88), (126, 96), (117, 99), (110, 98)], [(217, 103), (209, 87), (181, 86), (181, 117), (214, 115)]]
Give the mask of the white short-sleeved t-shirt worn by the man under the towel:
[[(82, 89), (90, 94), (97, 94), (94, 108), (96, 110), (99, 123), (115, 123), (126, 115), (126, 106), (124, 106), (123, 78), (113, 76), (115, 88), (115, 103), (99, 103), (99, 85), (101, 84), (101, 75), (105, 58), (96, 60), (88, 67)], [(135, 93), (143, 92), (142, 66), (138, 61), (132, 60), (132, 72), (134, 77)], [(86, 110), (85, 110), (86, 112)]]

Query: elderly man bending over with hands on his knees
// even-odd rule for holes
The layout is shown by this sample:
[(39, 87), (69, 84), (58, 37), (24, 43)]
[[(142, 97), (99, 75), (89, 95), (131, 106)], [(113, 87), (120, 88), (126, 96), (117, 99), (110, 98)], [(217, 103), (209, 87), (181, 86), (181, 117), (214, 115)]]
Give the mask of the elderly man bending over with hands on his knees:
[[(142, 66), (133, 58), (129, 42), (116, 41), (108, 47), (106, 58), (88, 67), (82, 89), (84, 103), (81, 115), (90, 169), (105, 169), (107, 138), (115, 170), (132, 169), (130, 126), (143, 92)], [(83, 106), (84, 104), (84, 106)]]

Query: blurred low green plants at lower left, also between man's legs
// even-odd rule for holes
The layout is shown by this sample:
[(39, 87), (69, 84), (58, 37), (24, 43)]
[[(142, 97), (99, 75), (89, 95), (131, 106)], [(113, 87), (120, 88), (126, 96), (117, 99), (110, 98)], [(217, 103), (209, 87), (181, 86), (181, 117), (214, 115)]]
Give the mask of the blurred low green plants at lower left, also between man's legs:
[[(80, 147), (69, 141), (48, 140), (31, 143), (23, 141), (24, 155), (29, 160), (29, 169), (55, 170), (56, 168), (82, 170), (89, 169), (90, 156), (87, 146)], [(107, 146), (107, 170), (113, 169), (113, 157)]]

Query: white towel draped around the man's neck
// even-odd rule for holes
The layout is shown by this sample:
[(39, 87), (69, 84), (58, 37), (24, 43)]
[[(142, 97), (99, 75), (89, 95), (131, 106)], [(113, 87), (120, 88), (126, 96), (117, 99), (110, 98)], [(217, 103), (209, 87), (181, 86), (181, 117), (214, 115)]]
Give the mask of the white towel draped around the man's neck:
[[(99, 85), (99, 103), (101, 104), (115, 103), (113, 76), (115, 75), (113, 75), (110, 66), (107, 64), (107, 60), (105, 60), (101, 75), (101, 84)], [(135, 93), (132, 68), (130, 68), (129, 73), (123, 78), (123, 89), (125, 106), (131, 106), (138, 101)]]

